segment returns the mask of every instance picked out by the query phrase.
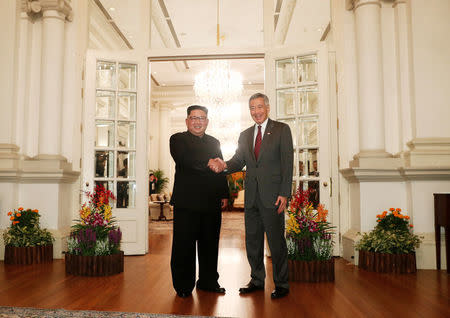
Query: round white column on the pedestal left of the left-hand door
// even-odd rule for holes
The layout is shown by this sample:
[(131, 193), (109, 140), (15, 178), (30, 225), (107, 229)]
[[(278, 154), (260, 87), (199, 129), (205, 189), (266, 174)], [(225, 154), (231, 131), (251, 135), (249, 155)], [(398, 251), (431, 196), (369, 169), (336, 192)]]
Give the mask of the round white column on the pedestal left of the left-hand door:
[(45, 2), (42, 8), (39, 156), (61, 156), (64, 23), (68, 12), (57, 6), (59, 3)]

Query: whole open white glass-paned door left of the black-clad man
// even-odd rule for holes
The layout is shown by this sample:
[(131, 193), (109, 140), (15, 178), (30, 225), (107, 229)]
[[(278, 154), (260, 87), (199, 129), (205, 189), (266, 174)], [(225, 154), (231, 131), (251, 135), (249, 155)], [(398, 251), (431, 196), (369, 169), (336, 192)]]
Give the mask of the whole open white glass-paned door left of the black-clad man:
[(126, 255), (148, 251), (148, 63), (133, 52), (89, 50), (83, 108), (83, 187), (113, 191)]

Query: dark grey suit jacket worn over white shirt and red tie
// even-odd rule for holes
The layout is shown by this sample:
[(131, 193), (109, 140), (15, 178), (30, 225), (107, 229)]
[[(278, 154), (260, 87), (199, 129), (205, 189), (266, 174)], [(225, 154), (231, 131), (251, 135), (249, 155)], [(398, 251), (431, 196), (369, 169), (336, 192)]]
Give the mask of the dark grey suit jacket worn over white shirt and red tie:
[(253, 151), (255, 126), (244, 130), (238, 141), (238, 149), (227, 161), (228, 173), (247, 166), (245, 175), (245, 205), (251, 206), (256, 189), (266, 208), (274, 208), (279, 195), (290, 197), (294, 147), (288, 125), (269, 119), (261, 144), (258, 161)]

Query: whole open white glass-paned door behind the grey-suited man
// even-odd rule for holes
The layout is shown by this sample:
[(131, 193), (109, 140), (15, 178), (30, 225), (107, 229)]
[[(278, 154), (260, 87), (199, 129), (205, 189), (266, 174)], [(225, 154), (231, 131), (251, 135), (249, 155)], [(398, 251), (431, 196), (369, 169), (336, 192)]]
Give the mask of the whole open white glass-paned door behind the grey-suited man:
[[(311, 190), (310, 200), (329, 211), (328, 220), (339, 233), (337, 136), (326, 46), (283, 49), (266, 55), (266, 92), (271, 116), (287, 123), (294, 144), (293, 192)], [(332, 75), (332, 74), (331, 74)], [(334, 78), (334, 77), (332, 77)], [(336, 235), (335, 255), (339, 254)]]

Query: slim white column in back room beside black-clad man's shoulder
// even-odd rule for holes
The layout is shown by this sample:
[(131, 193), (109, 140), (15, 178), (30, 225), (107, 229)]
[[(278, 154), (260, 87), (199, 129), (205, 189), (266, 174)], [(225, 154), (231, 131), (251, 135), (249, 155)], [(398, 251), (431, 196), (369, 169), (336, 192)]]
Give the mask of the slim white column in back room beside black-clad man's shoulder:
[(159, 107), (159, 169), (166, 177), (170, 174), (170, 111), (171, 107), (161, 104)]

